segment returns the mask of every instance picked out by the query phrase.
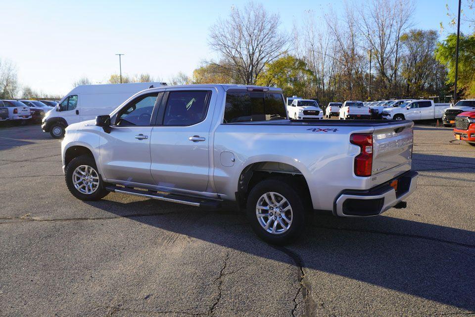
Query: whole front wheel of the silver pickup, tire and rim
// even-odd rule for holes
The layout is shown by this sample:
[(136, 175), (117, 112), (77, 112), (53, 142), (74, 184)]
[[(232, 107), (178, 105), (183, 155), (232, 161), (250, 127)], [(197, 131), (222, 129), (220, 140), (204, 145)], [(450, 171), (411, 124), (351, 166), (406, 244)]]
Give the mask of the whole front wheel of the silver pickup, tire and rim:
[(80, 200), (99, 200), (109, 193), (97, 172), (94, 158), (89, 155), (79, 156), (69, 162), (66, 184), (71, 194)]

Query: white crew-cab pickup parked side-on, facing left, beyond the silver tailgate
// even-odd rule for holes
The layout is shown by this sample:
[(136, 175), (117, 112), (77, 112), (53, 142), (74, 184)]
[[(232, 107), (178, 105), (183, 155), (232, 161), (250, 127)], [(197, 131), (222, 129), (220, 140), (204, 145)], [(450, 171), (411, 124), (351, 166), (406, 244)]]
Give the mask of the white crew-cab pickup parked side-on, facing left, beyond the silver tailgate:
[(381, 115), (389, 120), (440, 119), (450, 104), (434, 104), (432, 100), (411, 100), (396, 107), (385, 108)]

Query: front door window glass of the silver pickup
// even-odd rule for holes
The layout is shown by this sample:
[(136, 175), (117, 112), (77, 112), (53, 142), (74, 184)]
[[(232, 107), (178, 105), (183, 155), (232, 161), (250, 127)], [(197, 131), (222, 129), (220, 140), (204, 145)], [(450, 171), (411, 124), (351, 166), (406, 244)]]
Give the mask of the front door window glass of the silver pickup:
[(124, 106), (117, 115), (117, 126), (150, 125), (158, 93), (142, 95)]

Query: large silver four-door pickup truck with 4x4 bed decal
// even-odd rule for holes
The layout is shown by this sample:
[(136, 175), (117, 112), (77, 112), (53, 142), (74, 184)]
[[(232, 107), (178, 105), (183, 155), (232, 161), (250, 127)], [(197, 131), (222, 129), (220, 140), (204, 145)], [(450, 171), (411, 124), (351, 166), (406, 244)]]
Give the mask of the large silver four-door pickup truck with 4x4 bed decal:
[(416, 189), (412, 121), (288, 119), (282, 91), (245, 85), (143, 90), (71, 124), (69, 191), (217, 208), (235, 201), (262, 239), (295, 237), (315, 212), (378, 215)]

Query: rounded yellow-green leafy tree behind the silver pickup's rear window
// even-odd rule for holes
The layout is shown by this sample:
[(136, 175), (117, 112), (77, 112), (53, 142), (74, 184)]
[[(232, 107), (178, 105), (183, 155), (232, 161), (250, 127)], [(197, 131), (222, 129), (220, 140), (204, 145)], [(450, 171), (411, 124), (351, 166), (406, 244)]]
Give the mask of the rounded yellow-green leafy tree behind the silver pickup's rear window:
[(307, 63), (292, 55), (285, 55), (266, 64), (264, 71), (259, 74), (256, 85), (275, 86), (282, 88), (285, 96), (309, 96), (308, 87), (315, 84), (315, 74)]

